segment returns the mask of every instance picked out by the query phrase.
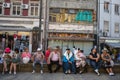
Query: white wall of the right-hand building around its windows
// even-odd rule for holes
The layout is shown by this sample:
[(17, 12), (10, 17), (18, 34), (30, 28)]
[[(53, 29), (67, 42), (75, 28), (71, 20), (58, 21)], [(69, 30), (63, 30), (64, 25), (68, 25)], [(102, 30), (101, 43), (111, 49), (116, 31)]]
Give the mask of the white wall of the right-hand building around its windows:
[[(104, 12), (104, 1), (110, 2), (110, 12), (109, 13)], [(103, 31), (104, 21), (109, 21), (109, 34), (108, 35), (110, 37), (119, 37), (119, 35), (120, 35), (120, 33), (118, 33), (118, 34), (114, 33), (114, 24), (115, 23), (120, 24), (120, 15), (116, 16), (114, 14), (114, 5), (115, 4), (120, 5), (120, 0), (100, 0), (100, 24), (99, 24), (100, 28), (99, 29)]]

